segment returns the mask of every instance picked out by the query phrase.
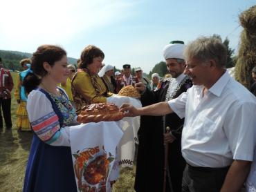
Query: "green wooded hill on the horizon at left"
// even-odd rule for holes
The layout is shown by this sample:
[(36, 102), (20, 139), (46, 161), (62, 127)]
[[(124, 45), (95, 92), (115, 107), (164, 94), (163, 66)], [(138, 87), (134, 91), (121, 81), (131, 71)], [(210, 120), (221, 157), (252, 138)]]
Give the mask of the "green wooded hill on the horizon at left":
[[(3, 60), (3, 65), (5, 68), (10, 70), (22, 70), (19, 66), (19, 61), (25, 58), (31, 58), (32, 54), (28, 52), (20, 52), (15, 50), (0, 50), (0, 57)], [(77, 59), (68, 57), (68, 64), (77, 63)]]

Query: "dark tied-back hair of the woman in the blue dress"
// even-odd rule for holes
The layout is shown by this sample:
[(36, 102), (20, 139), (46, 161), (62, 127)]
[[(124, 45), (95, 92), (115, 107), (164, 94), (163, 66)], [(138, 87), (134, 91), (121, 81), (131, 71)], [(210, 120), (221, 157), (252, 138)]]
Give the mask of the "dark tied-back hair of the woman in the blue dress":
[(56, 61), (60, 61), (62, 57), (66, 55), (66, 51), (59, 46), (43, 45), (37, 48), (37, 51), (33, 53), (31, 58), (31, 70), (33, 73), (28, 73), (23, 81), (26, 93), (30, 93), (31, 90), (37, 88), (41, 83), (42, 77), (47, 75), (47, 71), (44, 69), (44, 62), (47, 62), (50, 66), (53, 66)]

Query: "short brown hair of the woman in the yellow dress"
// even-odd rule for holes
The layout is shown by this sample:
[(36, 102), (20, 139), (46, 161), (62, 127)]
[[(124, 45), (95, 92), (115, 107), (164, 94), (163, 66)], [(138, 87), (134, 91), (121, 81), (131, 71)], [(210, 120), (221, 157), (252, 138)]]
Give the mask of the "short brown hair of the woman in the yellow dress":
[(89, 64), (93, 63), (93, 58), (95, 57), (102, 57), (102, 59), (104, 59), (104, 52), (96, 46), (86, 46), (84, 50), (82, 50), (80, 62), (77, 64), (78, 68), (87, 68)]

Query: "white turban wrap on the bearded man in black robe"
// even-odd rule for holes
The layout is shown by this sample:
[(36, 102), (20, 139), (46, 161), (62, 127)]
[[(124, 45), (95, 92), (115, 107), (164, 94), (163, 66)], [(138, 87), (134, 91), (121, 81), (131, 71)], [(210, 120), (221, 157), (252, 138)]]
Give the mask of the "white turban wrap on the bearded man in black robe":
[(184, 59), (184, 44), (168, 44), (163, 48), (163, 57), (166, 59)]

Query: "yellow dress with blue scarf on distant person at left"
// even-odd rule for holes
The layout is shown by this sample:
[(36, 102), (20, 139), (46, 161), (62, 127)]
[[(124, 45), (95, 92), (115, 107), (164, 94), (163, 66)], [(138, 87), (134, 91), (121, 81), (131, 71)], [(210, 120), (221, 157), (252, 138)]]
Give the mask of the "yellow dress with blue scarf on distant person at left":
[(28, 121), (28, 113), (26, 110), (26, 94), (24, 87), (21, 86), (22, 81), (24, 79), (24, 73), (18, 73), (17, 77), (17, 86), (15, 89), (15, 98), (17, 101), (20, 101), (19, 106), (16, 111), (17, 115), (17, 121), (16, 121), (16, 127), (19, 131), (31, 131), (30, 123)]

